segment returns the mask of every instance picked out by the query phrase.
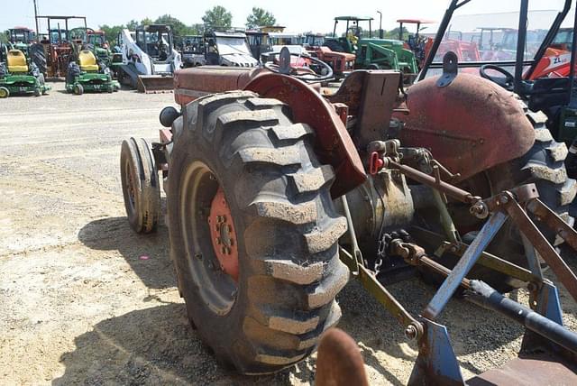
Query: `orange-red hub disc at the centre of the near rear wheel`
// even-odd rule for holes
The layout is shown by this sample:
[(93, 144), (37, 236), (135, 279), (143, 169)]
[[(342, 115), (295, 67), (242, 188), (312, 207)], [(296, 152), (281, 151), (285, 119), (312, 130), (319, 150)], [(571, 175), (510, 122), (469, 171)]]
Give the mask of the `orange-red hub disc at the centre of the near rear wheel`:
[(238, 281), (238, 239), (234, 231), (231, 209), (224, 198), (224, 191), (220, 187), (210, 206), (208, 226), (220, 268), (234, 281)]

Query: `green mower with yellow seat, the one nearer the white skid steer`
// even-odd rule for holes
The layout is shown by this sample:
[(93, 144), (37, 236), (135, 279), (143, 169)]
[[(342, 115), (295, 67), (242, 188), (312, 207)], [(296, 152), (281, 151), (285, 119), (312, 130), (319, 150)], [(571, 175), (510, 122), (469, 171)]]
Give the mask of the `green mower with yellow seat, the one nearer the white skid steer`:
[(85, 91), (109, 92), (118, 91), (120, 83), (113, 80), (110, 69), (96, 61), (90, 50), (78, 53), (78, 62), (72, 61), (66, 75), (66, 90), (69, 93), (82, 95)]

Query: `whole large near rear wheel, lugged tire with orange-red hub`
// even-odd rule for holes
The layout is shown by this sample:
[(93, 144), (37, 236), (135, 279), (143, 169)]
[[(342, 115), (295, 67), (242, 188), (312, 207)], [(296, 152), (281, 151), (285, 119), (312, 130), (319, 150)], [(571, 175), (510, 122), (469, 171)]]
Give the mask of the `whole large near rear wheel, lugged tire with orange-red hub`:
[(341, 310), (346, 221), (314, 135), (252, 92), (186, 107), (169, 161), (170, 256), (188, 317), (218, 360), (277, 372), (311, 354)]

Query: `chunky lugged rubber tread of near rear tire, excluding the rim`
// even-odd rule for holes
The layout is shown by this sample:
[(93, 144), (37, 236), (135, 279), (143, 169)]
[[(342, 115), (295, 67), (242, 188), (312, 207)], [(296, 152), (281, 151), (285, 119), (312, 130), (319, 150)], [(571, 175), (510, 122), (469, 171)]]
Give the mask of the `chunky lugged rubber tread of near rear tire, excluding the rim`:
[[(243, 373), (277, 372), (310, 354), (320, 334), (337, 323), (341, 310), (334, 298), (349, 278), (338, 258), (346, 221), (330, 198), (334, 171), (316, 161), (312, 129), (293, 124), (290, 116), (285, 104), (247, 91), (199, 98), (186, 107), (171, 157), (180, 145), (196, 142), (235, 176), (230, 194), (245, 224), (247, 259), (245, 266), (241, 261), (239, 280), (245, 275), (246, 282), (242, 300), (236, 300), (243, 307), (234, 316), (236, 344), (220, 345), (221, 337), (204, 335), (206, 321), (190, 315), (216, 356)], [(176, 191), (170, 177), (169, 190)], [(171, 254), (177, 271), (187, 268), (172, 243)], [(186, 288), (194, 286), (183, 287), (187, 298)]]

